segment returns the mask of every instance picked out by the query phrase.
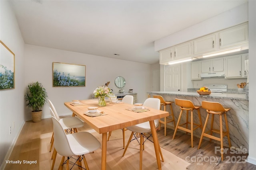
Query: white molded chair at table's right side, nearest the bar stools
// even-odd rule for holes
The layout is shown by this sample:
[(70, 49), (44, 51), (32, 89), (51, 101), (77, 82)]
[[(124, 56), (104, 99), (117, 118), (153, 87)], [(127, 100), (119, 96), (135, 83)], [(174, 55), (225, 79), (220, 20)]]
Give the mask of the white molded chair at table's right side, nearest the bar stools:
[[(146, 106), (146, 107), (150, 107), (150, 108), (153, 108), (153, 109), (160, 109), (160, 100), (158, 98), (147, 98), (143, 104), (143, 106)], [(154, 123), (155, 123), (155, 126), (157, 127), (158, 126), (158, 123), (159, 123), (159, 119), (156, 119), (154, 120)], [(138, 137), (140, 137), (140, 170), (142, 169), (142, 150), (144, 150), (144, 143), (146, 140), (149, 140), (151, 141), (150, 139), (148, 139), (149, 137), (146, 137), (145, 136), (145, 133), (149, 133), (151, 132), (151, 129), (150, 129), (150, 124), (149, 122), (144, 122), (144, 123), (140, 123), (138, 125), (133, 125), (133, 126), (129, 126), (129, 127), (126, 127), (126, 129), (132, 131), (131, 135), (130, 135), (130, 138), (128, 140), (128, 143), (126, 145), (126, 148), (124, 150), (124, 153), (123, 153), (123, 156), (130, 144), (130, 142), (132, 141), (132, 136), (134, 135), (135, 139), (138, 141)], [(140, 136), (136, 136), (136, 133), (140, 133)], [(146, 140), (144, 141), (144, 137), (146, 138)], [(134, 140), (134, 139), (133, 139)], [(152, 142), (152, 141), (151, 141)], [(142, 149), (143, 147), (143, 149)], [(160, 156), (162, 158), (162, 162), (164, 162), (164, 158), (163, 158), (163, 155), (162, 155), (162, 152), (161, 152), (161, 149), (160, 149), (160, 146), (159, 146), (159, 151), (160, 151)]]

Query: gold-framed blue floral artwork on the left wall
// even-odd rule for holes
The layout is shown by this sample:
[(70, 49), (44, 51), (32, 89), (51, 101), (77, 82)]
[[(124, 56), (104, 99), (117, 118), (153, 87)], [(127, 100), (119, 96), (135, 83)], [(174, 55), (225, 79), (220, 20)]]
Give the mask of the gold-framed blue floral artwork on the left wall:
[(0, 40), (0, 90), (15, 88), (14, 53)]

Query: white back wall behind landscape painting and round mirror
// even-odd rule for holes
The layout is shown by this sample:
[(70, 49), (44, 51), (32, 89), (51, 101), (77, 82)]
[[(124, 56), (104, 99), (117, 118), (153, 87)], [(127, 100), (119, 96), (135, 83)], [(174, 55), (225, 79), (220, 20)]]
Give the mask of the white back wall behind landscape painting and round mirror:
[[(64, 102), (74, 99), (90, 99), (97, 86), (103, 86), (110, 81), (109, 88), (118, 93), (119, 88), (114, 84), (117, 76), (123, 76), (126, 92), (133, 89), (138, 93), (137, 101), (144, 102), (150, 91), (151, 66), (150, 64), (136, 63), (119, 59), (111, 59), (95, 55), (75, 53), (25, 45), (25, 84), (41, 82), (48, 92), (48, 98), (53, 102), (60, 115), (71, 114), (64, 106)], [(86, 87), (53, 87), (52, 86), (52, 62), (86, 65)], [(44, 106), (43, 117), (50, 117), (49, 105)], [(30, 120), (30, 109), (26, 108), (25, 120)]]

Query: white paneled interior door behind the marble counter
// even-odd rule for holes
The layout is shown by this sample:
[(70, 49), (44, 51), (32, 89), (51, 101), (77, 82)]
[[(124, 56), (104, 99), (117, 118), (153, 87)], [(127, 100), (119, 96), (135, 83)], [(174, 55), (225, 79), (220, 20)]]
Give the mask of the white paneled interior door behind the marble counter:
[(181, 65), (175, 64), (164, 68), (164, 91), (179, 92), (181, 89)]

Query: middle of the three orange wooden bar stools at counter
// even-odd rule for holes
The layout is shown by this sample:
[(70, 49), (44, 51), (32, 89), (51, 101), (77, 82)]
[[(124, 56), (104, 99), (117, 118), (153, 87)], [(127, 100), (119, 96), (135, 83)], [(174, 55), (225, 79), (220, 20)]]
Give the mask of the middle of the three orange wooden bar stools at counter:
[[(200, 115), (200, 107), (201, 106), (194, 106), (194, 104), (190, 100), (182, 100), (182, 99), (175, 99), (175, 104), (180, 106), (180, 115), (179, 115), (178, 122), (177, 122), (172, 139), (174, 139), (175, 134), (178, 129), (180, 129), (182, 131), (186, 131), (186, 133), (191, 133), (191, 147), (193, 148), (193, 131), (196, 130), (198, 127), (201, 127), (201, 129), (203, 129), (202, 119), (201, 119), (201, 115)], [(193, 122), (193, 110), (194, 109), (196, 109), (198, 112), (200, 124), (196, 124)], [(186, 110), (186, 113), (187, 113), (186, 123), (179, 125), (183, 110)], [(190, 111), (190, 113), (191, 113), (191, 115), (190, 115), (191, 122), (188, 121), (188, 111)], [(190, 124), (190, 129), (188, 129), (188, 124)], [(183, 125), (186, 125), (186, 128), (182, 127)], [(196, 127), (194, 127), (194, 125), (196, 125)]]

